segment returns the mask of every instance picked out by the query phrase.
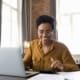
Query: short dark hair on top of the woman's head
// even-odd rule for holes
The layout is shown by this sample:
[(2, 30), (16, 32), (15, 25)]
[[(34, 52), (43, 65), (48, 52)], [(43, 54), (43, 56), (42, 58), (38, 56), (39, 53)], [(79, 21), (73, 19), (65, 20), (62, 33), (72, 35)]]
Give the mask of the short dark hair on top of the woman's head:
[(41, 15), (36, 19), (36, 26), (38, 26), (42, 23), (49, 23), (51, 25), (51, 28), (54, 29), (54, 21), (55, 19), (48, 15)]

